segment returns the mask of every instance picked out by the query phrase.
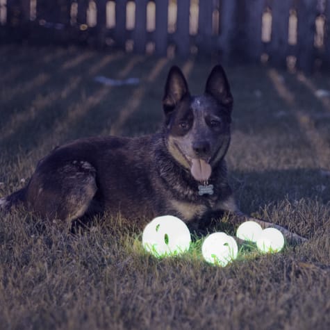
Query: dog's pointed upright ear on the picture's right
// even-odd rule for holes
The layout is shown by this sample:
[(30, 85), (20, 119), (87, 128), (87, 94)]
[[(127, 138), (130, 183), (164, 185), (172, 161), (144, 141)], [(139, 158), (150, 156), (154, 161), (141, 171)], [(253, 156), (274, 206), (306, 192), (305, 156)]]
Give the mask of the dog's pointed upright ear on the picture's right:
[(220, 104), (229, 108), (229, 110), (233, 107), (233, 96), (231, 95), (230, 86), (221, 65), (213, 67), (206, 81), (205, 92), (213, 96)]

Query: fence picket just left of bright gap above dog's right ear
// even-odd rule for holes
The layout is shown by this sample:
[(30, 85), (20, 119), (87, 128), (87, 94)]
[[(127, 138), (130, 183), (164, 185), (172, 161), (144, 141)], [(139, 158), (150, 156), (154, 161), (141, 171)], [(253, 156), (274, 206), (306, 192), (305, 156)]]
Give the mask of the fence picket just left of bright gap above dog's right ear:
[(212, 14), (213, 0), (199, 1), (198, 45), (205, 53), (212, 49)]

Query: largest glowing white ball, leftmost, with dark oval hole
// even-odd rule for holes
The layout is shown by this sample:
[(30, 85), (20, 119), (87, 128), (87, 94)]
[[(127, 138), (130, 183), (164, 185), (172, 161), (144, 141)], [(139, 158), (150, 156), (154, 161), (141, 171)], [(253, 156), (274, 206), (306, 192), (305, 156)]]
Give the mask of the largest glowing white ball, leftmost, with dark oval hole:
[(190, 242), (188, 227), (172, 215), (155, 217), (142, 235), (143, 247), (156, 257), (182, 254), (188, 251)]

